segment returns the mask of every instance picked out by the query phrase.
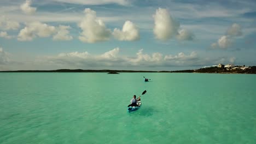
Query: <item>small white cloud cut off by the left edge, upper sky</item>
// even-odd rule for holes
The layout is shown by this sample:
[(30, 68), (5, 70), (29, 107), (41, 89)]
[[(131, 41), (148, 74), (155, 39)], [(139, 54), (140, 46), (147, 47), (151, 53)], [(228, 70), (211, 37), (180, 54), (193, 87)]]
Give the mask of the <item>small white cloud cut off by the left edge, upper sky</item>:
[(20, 27), (20, 23), (16, 21), (11, 21), (7, 19), (5, 16), (0, 17), (0, 29), (9, 30), (9, 29), (18, 29)]

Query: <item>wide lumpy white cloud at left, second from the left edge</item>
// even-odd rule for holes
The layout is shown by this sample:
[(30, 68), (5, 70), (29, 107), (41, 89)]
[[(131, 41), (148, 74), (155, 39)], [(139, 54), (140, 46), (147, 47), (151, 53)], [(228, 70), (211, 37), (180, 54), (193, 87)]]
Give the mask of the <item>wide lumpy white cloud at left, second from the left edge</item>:
[(18, 40), (31, 41), (36, 37), (49, 37), (56, 32), (54, 26), (49, 26), (46, 23), (31, 22), (27, 23), (26, 27), (21, 29)]

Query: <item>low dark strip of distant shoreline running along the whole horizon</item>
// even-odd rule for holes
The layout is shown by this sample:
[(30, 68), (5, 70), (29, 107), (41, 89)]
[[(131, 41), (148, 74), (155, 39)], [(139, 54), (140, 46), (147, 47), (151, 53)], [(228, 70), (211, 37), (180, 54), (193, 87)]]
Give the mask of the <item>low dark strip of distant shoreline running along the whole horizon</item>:
[(149, 70), (84, 70), (84, 69), (57, 69), (57, 70), (5, 70), (0, 73), (210, 73), (210, 74), (256, 74), (256, 66), (248, 69), (201, 68), (196, 70), (149, 71)]

